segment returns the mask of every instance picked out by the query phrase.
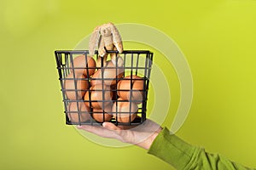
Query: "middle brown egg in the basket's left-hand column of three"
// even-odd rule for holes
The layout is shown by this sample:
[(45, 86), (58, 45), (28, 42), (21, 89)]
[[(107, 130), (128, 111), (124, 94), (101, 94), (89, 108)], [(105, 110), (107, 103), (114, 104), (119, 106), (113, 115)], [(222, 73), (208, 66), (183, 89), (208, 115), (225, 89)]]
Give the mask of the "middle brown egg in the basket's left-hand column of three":
[(84, 97), (85, 90), (89, 88), (89, 82), (85, 80), (84, 75), (75, 73), (75, 80), (73, 77), (73, 73), (70, 73), (66, 78), (71, 78), (69, 80), (65, 80), (64, 82), (67, 99), (82, 99)]

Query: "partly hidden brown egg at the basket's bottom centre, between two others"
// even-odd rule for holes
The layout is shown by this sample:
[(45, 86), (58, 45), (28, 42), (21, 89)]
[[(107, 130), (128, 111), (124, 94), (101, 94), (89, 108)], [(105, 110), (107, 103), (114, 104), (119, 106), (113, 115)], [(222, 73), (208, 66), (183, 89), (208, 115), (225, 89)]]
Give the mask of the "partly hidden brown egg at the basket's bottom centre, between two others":
[[(93, 109), (93, 114), (92, 117), (96, 120), (96, 122), (108, 122), (112, 119), (112, 105), (113, 104), (109, 104), (104, 108), (104, 113), (102, 108), (100, 109)], [(108, 114), (109, 113), (109, 114)], [(103, 119), (104, 117), (104, 119)]]

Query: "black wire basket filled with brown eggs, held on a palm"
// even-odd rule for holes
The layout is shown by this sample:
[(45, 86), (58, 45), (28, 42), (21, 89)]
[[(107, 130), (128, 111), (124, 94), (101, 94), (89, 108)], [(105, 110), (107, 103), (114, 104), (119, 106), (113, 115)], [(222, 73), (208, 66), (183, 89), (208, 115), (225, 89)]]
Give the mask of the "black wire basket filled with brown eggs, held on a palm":
[(104, 62), (98, 51), (57, 50), (55, 59), (66, 124), (133, 126), (146, 120), (152, 52), (107, 51)]

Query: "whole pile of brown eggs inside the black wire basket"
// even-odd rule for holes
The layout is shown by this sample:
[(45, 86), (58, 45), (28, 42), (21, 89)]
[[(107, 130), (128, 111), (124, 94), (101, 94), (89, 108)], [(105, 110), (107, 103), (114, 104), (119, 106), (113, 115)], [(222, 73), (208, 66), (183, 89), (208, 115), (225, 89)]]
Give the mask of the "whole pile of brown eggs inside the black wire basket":
[(85, 55), (74, 58), (69, 68), (64, 91), (70, 101), (67, 105), (70, 122), (87, 122), (90, 116), (96, 122), (134, 121), (138, 105), (143, 102), (142, 77), (124, 77), (124, 65), (115, 67), (112, 60), (96, 70), (95, 59)]

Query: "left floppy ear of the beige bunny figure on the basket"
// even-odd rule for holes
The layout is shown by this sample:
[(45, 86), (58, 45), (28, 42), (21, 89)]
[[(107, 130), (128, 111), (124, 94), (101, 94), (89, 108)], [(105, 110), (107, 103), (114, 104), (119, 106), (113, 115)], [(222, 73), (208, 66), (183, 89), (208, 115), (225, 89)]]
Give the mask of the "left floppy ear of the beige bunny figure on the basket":
[(89, 55), (94, 55), (95, 49), (98, 47), (99, 39), (100, 39), (100, 26), (97, 26), (93, 33), (90, 36), (89, 42)]

